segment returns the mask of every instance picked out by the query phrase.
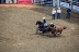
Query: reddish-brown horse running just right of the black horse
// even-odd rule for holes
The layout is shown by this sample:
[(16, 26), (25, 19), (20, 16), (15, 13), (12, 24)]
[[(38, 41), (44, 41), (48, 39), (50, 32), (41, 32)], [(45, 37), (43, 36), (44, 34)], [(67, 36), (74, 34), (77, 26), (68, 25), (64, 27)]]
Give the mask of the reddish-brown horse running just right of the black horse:
[(56, 28), (48, 26), (48, 29), (50, 30), (52, 34), (54, 34), (54, 36), (56, 36), (56, 34), (61, 34), (64, 29), (66, 29), (66, 26), (57, 26)]

